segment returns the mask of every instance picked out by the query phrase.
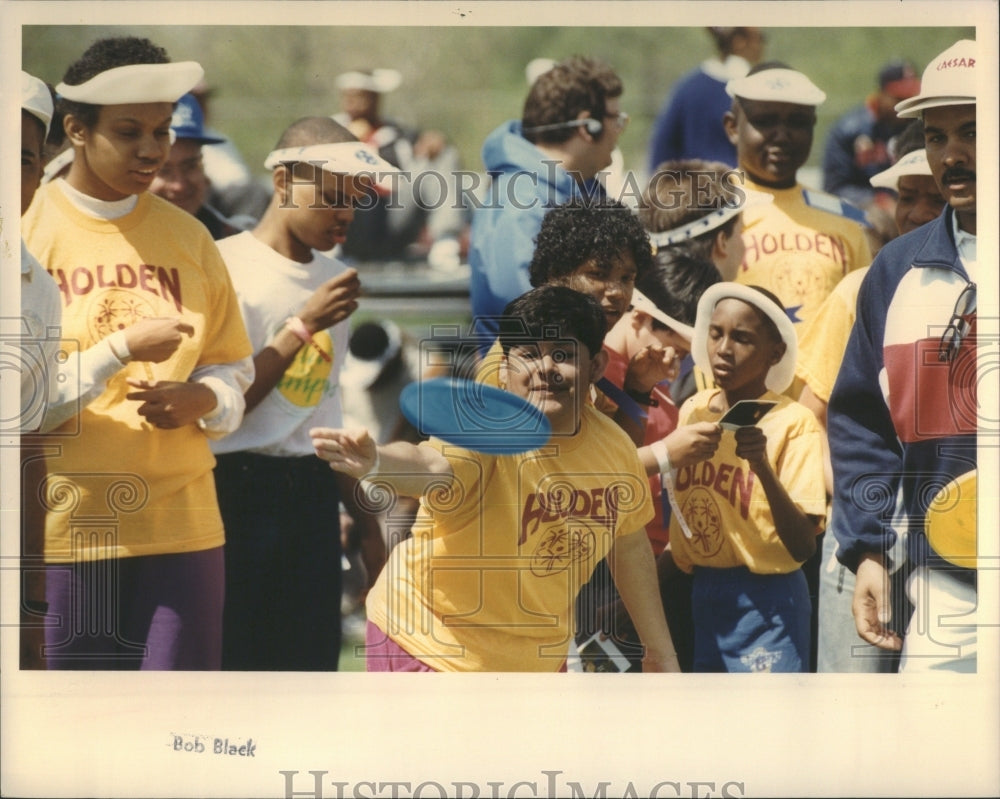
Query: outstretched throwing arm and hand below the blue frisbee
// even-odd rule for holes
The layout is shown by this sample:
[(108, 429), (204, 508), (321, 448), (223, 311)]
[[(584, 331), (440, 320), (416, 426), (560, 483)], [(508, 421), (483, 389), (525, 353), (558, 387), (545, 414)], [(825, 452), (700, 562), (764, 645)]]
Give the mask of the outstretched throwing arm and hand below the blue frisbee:
[(331, 468), (359, 480), (378, 478), (404, 496), (419, 497), (431, 484), (453, 476), (448, 459), (436, 449), (407, 441), (378, 446), (363, 427), (314, 427), (309, 435), (316, 454)]

